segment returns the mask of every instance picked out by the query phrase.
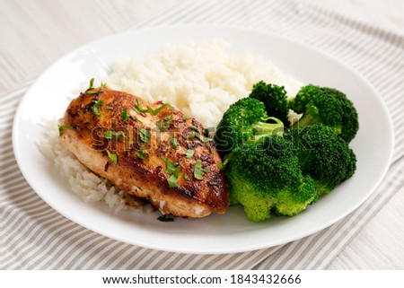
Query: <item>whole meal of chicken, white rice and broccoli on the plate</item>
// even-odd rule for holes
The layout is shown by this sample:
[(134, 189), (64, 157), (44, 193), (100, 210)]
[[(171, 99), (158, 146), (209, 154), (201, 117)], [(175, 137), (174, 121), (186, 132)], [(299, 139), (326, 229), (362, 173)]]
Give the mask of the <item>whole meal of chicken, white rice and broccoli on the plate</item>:
[(84, 201), (116, 211), (147, 202), (164, 222), (242, 205), (261, 222), (303, 212), (355, 173), (358, 116), (347, 96), (303, 86), (221, 39), (121, 58), (103, 81), (59, 123), (73, 154), (53, 146)]

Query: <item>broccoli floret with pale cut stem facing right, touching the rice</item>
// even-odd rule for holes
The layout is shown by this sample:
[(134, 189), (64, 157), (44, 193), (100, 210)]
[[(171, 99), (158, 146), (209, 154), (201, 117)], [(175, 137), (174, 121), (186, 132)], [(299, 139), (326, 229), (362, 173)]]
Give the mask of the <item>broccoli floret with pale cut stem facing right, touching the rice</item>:
[(258, 142), (263, 136), (282, 134), (283, 129), (282, 121), (268, 117), (261, 101), (249, 97), (242, 98), (224, 112), (216, 127), (216, 149), (224, 155), (242, 144)]

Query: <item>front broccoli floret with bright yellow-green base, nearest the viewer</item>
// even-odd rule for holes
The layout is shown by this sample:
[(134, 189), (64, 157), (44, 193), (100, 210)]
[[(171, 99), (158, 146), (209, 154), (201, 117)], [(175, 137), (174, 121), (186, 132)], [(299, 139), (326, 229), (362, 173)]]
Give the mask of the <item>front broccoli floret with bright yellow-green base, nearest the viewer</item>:
[(242, 205), (253, 222), (272, 214), (293, 216), (317, 198), (310, 176), (303, 176), (291, 142), (266, 136), (233, 150), (226, 166), (230, 204)]

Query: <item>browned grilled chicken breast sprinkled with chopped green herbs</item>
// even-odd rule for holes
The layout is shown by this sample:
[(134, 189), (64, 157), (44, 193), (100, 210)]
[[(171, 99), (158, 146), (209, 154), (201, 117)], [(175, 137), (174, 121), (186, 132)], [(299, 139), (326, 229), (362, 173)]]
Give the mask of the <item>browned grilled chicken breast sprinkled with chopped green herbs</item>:
[(83, 165), (162, 214), (198, 218), (229, 205), (215, 143), (168, 104), (89, 89), (70, 103), (60, 127), (61, 143)]

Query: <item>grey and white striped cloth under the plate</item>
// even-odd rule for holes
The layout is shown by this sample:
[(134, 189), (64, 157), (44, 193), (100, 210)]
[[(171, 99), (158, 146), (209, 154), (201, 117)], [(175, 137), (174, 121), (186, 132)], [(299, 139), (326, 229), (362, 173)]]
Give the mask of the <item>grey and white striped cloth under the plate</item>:
[[(13, 157), (13, 113), (30, 83), (0, 96), (0, 268), (4, 269), (322, 269), (404, 182), (404, 36), (299, 1), (186, 2), (153, 21), (221, 24), (270, 31), (337, 57), (363, 74), (387, 103), (393, 162), (364, 205), (328, 229), (283, 246), (228, 255), (144, 249), (88, 231), (57, 214), (22, 178)], [(374, 119), (377, 121), (377, 119)]]

